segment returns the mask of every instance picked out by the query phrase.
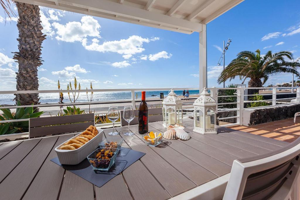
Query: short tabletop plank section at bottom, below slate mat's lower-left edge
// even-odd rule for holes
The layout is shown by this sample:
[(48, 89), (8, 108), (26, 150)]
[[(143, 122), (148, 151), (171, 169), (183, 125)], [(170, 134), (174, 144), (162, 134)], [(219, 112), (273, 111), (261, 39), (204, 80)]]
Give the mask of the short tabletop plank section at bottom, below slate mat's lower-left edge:
[(94, 200), (93, 184), (66, 170), (59, 199)]

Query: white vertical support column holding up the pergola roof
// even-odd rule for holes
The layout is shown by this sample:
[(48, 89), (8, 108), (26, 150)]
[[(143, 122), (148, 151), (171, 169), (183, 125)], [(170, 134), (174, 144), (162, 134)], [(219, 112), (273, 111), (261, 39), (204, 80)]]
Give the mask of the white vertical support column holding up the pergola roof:
[(202, 24), (199, 32), (199, 94), (207, 87), (207, 52), (206, 52), (206, 24)]

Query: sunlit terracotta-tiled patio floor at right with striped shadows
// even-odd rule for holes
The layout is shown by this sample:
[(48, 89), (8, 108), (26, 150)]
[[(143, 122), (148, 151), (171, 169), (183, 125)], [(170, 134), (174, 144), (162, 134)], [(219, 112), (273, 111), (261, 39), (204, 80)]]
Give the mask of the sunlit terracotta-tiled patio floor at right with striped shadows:
[(300, 136), (300, 118), (296, 119), (296, 123), (294, 123), (294, 118), (289, 118), (256, 126), (234, 126), (230, 128), (276, 140), (293, 142)]

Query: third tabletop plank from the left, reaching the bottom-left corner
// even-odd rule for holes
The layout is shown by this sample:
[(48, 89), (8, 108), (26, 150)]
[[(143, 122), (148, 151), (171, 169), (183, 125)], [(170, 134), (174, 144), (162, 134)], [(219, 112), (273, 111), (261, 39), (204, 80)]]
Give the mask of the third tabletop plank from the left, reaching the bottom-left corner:
[[(57, 137), (43, 138), (0, 184), (3, 199), (21, 199), (44, 160), (51, 151)], [(23, 141), (26, 143), (32, 140)], [(46, 181), (46, 180), (45, 180)]]

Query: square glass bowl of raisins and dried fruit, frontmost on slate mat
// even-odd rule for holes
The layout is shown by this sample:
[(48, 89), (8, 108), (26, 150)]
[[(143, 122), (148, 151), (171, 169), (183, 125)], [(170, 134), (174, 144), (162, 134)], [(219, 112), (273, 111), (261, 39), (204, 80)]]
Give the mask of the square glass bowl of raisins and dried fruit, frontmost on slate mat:
[[(104, 154), (103, 157), (97, 158), (97, 155), (101, 154), (101, 152), (103, 152), (102, 154)], [(93, 151), (90, 155), (88, 155), (87, 159), (94, 170), (108, 171), (111, 168), (111, 166), (113, 166), (113, 164), (115, 163), (118, 153), (118, 148), (101, 147)]]

